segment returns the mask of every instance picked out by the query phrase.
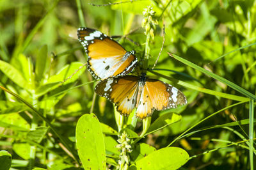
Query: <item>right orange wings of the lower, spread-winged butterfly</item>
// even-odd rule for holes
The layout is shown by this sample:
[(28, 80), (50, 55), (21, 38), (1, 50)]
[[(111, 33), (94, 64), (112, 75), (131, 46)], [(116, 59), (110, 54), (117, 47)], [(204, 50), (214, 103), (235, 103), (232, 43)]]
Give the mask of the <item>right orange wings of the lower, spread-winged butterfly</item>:
[(187, 103), (185, 95), (177, 88), (156, 79), (147, 79), (143, 86), (136, 116), (144, 119), (154, 109), (162, 111)]

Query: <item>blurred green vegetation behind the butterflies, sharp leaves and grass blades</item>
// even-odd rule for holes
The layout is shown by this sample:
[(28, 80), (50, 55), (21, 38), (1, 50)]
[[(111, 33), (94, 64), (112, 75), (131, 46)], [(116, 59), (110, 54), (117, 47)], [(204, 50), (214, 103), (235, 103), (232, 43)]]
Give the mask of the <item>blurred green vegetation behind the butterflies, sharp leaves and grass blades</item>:
[[(95, 5), (109, 2), (116, 4)], [(141, 143), (163, 148), (198, 121), (237, 102), (242, 103), (224, 109), (190, 132), (223, 126), (188, 135), (172, 146), (184, 148), (192, 157), (248, 139), (248, 98), (239, 98), (244, 95), (171, 58), (167, 52), (216, 73), (255, 95), (256, 1), (119, 2), (1, 0), (0, 86), (10, 89), (42, 112), (60, 135), (72, 141), (73, 145), (76, 122), (82, 114), (94, 112), (101, 123), (117, 130), (113, 105), (105, 98), (93, 96), (97, 82), (93, 81), (85, 67), (76, 71), (87, 60), (76, 31), (78, 27), (86, 26), (109, 36), (119, 36), (116, 40), (126, 50), (136, 50), (136, 56), (143, 59), (146, 36), (141, 28), (142, 12), (151, 5), (159, 25), (154, 29), (154, 40), (150, 41), (149, 68), (152, 68), (161, 51), (164, 25), (164, 46), (154, 71), (191, 86), (184, 87), (176, 81), (168, 81), (148, 72), (149, 77), (168, 82), (183, 91), (188, 104), (177, 109), (155, 111), (152, 122), (168, 112), (180, 114), (182, 119), (147, 135)], [(79, 12), (83, 17), (79, 16)], [(72, 73), (74, 76), (67, 79)], [(135, 70), (134, 75), (137, 74)], [(60, 86), (65, 79), (67, 81)], [(202, 93), (202, 88), (211, 89), (213, 94), (209, 91)], [(234, 98), (220, 97), (220, 92), (231, 94)], [(63, 158), (72, 162), (72, 158), (58, 144), (58, 137), (52, 136), (48, 128), (40, 129), (42, 136), (30, 138), (30, 130), (46, 126), (44, 121), (32, 115), (28, 107), (0, 90), (0, 150), (12, 154), (12, 168), (27, 169), (33, 153), (35, 167), (51, 167), (64, 162)], [(226, 126), (225, 123), (231, 122), (237, 123)], [(138, 120), (135, 132), (140, 133), (141, 130), (142, 122)], [(255, 137), (255, 131), (250, 136)], [(31, 152), (29, 141), (39, 143), (43, 148), (38, 146), (35, 152)], [(243, 147), (234, 144), (191, 158), (181, 169), (248, 169), (248, 145), (241, 145)], [(54, 156), (46, 148), (62, 158)]]

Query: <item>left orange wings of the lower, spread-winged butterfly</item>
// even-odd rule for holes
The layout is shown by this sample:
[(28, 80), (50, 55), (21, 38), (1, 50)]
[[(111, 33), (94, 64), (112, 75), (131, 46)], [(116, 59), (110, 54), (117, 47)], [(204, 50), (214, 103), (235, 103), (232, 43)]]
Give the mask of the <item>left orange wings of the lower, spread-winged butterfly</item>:
[(95, 92), (108, 98), (116, 104), (120, 114), (128, 116), (136, 106), (139, 77), (126, 75), (124, 77), (109, 77), (95, 87)]

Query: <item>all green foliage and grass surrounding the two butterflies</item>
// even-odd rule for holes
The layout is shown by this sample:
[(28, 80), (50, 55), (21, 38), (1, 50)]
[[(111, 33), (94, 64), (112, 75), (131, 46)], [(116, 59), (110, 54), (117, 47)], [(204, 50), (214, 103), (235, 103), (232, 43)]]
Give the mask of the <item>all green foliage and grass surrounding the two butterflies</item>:
[[(256, 1), (0, 6), (0, 169), (255, 168)], [(133, 74), (148, 69), (188, 104), (120, 116), (93, 95), (80, 26), (121, 35), (140, 61)]]

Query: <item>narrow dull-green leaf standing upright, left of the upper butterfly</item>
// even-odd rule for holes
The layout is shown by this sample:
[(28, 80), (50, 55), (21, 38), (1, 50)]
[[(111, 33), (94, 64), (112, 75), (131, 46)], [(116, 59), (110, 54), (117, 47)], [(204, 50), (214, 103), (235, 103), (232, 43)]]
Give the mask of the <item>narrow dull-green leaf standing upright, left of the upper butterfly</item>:
[(36, 81), (40, 81), (44, 75), (45, 65), (47, 62), (47, 45), (44, 45), (36, 57)]

